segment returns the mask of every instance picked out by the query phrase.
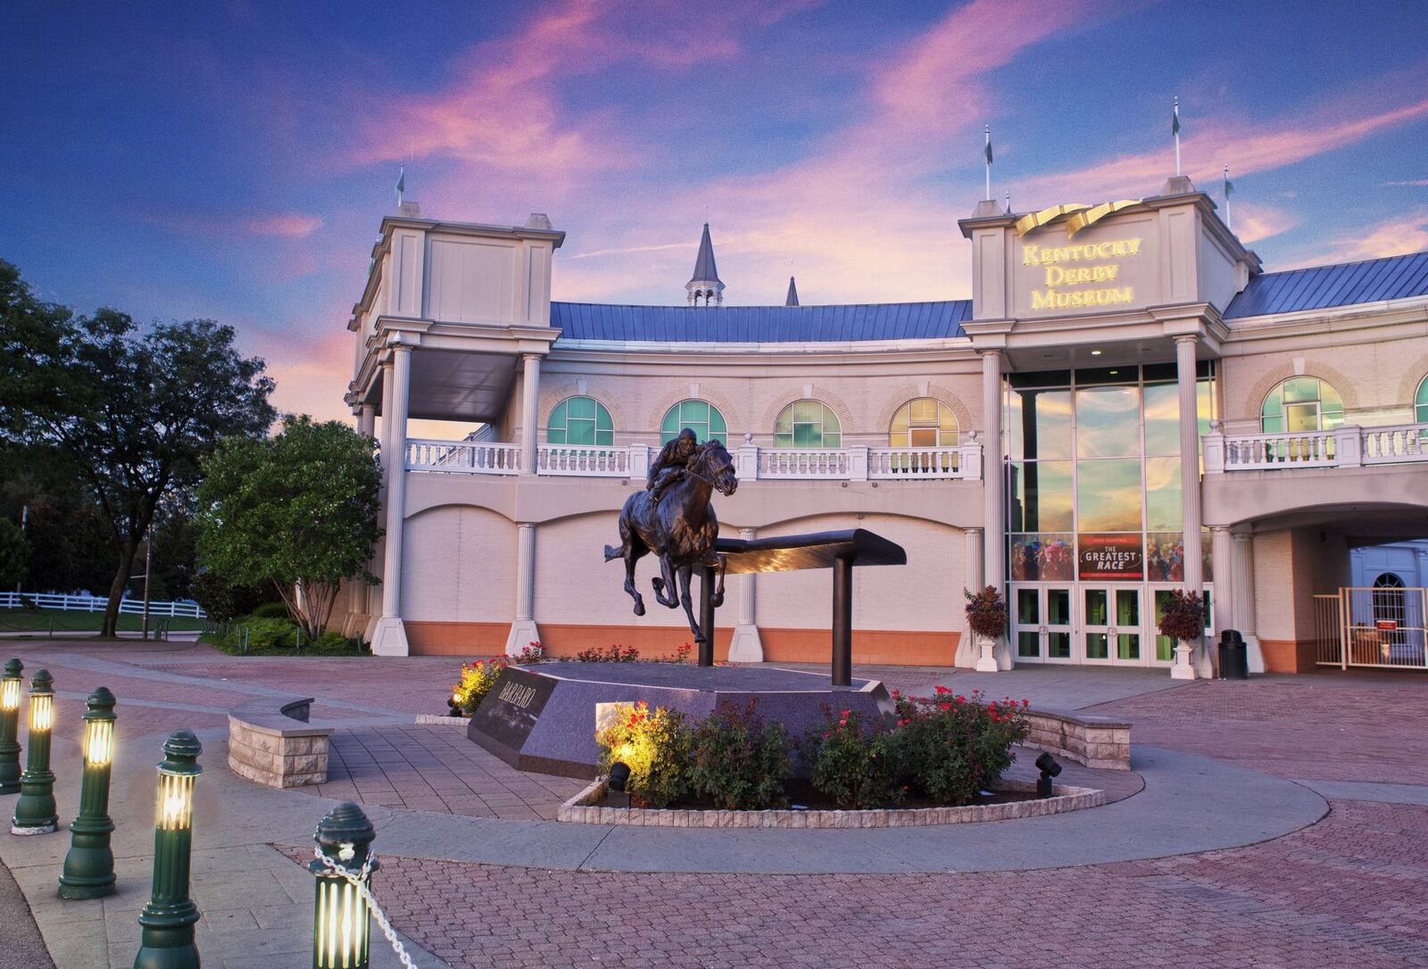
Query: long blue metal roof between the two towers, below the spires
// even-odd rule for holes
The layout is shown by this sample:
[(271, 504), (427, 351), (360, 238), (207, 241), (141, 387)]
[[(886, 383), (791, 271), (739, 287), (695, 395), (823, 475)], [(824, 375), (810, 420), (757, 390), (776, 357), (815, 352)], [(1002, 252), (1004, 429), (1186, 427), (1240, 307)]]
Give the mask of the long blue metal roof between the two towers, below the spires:
[(962, 337), (971, 300), (831, 307), (620, 307), (551, 303), (570, 340), (653, 343), (848, 343)]

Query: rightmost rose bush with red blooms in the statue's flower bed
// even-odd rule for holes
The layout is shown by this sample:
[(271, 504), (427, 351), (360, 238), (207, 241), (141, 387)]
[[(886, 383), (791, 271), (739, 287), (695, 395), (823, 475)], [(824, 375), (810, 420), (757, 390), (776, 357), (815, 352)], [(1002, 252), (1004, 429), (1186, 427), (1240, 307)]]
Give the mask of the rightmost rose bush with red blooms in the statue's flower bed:
[(968, 701), (938, 686), (931, 698), (894, 694), (894, 702), (904, 785), (937, 803), (971, 803), (1011, 766), (1012, 745), (1027, 736), (1027, 701), (982, 702), (980, 692)]

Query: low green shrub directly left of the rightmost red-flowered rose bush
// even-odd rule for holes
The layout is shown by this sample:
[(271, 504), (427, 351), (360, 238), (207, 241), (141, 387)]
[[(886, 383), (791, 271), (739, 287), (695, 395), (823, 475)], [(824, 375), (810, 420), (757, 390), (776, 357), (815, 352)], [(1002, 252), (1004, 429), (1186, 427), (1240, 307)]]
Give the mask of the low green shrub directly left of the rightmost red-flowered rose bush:
[(887, 808), (907, 793), (897, 734), (863, 728), (863, 714), (824, 708), (827, 722), (804, 738), (808, 781), (840, 808)]

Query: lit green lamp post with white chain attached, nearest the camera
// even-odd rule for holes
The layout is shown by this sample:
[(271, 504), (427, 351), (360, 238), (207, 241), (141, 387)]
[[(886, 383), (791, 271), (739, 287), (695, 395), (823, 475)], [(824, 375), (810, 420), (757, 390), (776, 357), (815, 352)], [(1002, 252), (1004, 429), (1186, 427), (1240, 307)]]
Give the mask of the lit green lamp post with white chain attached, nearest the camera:
[(321, 858), (314, 858), (307, 865), (317, 876), (313, 969), (367, 969), (370, 903), (367, 895), (333, 866), (357, 875), (366, 886), (371, 872), (377, 871), (377, 859), (371, 858), (376, 836), (367, 815), (350, 802), (337, 805), (317, 822), (314, 839)]

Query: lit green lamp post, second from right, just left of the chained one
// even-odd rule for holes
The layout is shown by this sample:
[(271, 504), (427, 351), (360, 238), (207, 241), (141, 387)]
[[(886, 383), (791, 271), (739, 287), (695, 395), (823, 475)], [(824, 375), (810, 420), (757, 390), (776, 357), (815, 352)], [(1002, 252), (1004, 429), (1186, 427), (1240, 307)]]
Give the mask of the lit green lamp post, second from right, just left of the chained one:
[(154, 825), (154, 888), (139, 916), (143, 929), (134, 969), (198, 969), (193, 926), (198, 906), (188, 898), (193, 856), (193, 785), (203, 745), (191, 731), (174, 731), (159, 762), (159, 819)]

